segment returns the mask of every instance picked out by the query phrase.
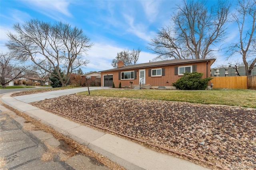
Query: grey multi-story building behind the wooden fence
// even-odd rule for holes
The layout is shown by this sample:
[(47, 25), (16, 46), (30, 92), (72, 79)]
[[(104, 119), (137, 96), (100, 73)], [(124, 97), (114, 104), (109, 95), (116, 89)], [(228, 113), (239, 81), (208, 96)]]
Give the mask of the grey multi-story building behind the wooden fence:
[[(240, 76), (245, 76), (245, 67), (238, 66), (238, 73)], [(238, 76), (236, 69), (233, 67), (218, 67), (211, 68), (211, 76), (212, 77), (229, 77), (229, 76)], [(252, 69), (251, 75), (256, 75), (256, 67)]]

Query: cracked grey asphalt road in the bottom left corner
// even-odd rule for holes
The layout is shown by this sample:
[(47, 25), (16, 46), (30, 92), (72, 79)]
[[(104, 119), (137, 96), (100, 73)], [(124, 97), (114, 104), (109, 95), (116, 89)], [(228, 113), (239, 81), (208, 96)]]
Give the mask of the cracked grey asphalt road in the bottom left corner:
[(68, 146), (0, 104), (0, 169), (109, 170), (96, 159), (76, 154), (63, 160)]

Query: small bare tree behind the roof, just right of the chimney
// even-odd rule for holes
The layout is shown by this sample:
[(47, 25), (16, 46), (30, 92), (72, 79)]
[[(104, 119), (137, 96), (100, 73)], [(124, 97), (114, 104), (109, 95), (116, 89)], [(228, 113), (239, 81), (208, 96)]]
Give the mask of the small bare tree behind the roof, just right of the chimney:
[(138, 48), (137, 50), (132, 49), (132, 51), (124, 49), (124, 51), (121, 51), (117, 53), (116, 58), (112, 60), (111, 65), (116, 68), (118, 61), (122, 60), (124, 62), (124, 65), (132, 65), (136, 64), (136, 62), (139, 59), (141, 49)]

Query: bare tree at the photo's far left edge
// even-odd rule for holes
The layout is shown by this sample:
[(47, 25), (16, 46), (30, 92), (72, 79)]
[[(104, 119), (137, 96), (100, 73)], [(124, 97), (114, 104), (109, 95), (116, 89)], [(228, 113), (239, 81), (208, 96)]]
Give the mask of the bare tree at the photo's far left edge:
[[(14, 57), (12, 57), (10, 53), (0, 53), (0, 84), (2, 85), (2, 88), (5, 88), (6, 84), (14, 79), (22, 77), (22, 73), (28, 68), (27, 66), (14, 63)], [(8, 80), (5, 81), (6, 78), (8, 78)]]

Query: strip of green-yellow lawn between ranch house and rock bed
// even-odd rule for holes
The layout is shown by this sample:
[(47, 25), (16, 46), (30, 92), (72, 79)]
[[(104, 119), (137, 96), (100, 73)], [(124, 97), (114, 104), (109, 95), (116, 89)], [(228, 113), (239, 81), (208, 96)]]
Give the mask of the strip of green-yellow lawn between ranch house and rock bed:
[[(78, 93), (88, 95), (88, 92)], [(247, 89), (212, 89), (198, 91), (183, 90), (92, 90), (91, 95), (105, 97), (127, 97), (134, 99), (182, 101), (189, 103), (230, 105), (238, 107), (256, 108), (256, 91)]]

